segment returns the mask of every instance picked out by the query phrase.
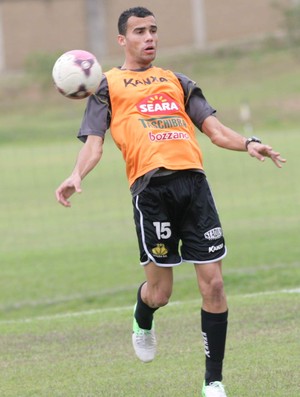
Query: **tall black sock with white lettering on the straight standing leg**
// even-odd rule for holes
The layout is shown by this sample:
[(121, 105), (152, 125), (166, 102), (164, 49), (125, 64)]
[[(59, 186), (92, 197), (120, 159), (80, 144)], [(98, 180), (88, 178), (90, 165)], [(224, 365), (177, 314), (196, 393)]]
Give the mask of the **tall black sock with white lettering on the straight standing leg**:
[(201, 310), (202, 335), (205, 348), (205, 381), (222, 381), (223, 359), (227, 333), (228, 311), (208, 313)]

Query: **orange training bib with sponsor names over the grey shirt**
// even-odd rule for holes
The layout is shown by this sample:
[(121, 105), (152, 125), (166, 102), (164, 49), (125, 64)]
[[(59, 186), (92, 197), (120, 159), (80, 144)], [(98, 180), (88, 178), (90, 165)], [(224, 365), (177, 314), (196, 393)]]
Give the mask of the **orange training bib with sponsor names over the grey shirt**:
[(111, 134), (126, 162), (129, 184), (155, 168), (203, 169), (184, 92), (175, 74), (111, 69), (105, 73), (111, 100)]

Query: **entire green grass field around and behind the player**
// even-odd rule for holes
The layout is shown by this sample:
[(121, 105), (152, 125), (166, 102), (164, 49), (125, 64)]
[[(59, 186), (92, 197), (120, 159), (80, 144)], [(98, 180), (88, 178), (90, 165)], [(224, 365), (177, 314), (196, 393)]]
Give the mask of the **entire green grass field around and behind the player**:
[[(279, 170), (199, 134), (228, 246), (228, 397), (298, 397), (299, 58), (286, 49), (180, 59), (161, 61), (198, 81), (236, 129), (246, 99), (254, 133), (288, 159)], [(71, 209), (58, 206), (54, 190), (81, 147), (84, 102), (1, 84), (0, 396), (199, 396), (193, 268), (175, 270), (171, 304), (156, 316), (158, 357), (140, 364), (130, 330), (143, 271), (121, 155), (107, 137), (82, 194)]]

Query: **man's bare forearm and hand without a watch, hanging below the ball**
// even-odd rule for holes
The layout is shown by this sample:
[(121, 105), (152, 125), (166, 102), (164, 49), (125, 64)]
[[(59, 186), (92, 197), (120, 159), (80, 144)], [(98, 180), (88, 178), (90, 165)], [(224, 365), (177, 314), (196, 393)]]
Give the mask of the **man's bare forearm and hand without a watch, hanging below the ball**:
[(57, 188), (57, 201), (65, 207), (71, 207), (68, 200), (73, 193), (81, 192), (81, 181), (92, 171), (101, 159), (103, 152), (103, 138), (89, 135), (80, 150), (72, 174)]

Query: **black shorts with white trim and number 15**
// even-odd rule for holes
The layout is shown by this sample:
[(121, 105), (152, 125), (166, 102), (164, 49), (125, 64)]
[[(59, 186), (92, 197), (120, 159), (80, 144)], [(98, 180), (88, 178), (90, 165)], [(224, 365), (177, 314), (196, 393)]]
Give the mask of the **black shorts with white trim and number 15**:
[(206, 177), (178, 171), (154, 177), (133, 198), (140, 261), (176, 266), (210, 263), (226, 255), (222, 227)]

